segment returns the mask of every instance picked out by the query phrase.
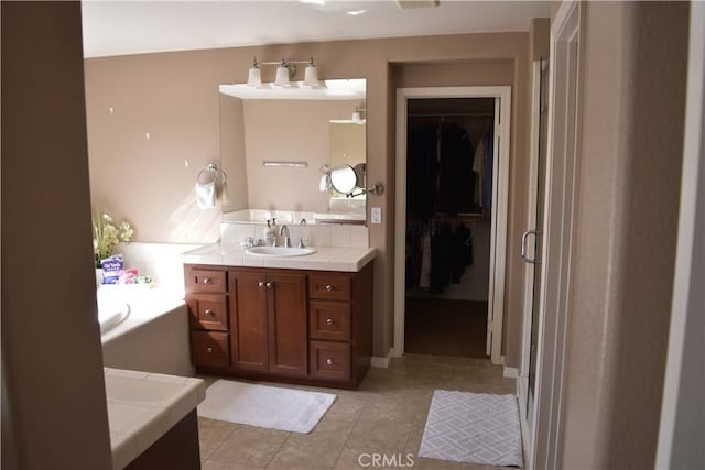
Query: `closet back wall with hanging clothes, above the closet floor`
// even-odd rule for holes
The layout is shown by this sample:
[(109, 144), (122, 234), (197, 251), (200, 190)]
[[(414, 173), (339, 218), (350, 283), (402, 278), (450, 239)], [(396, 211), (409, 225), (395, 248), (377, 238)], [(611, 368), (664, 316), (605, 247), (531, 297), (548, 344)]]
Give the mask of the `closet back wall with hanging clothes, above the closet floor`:
[(487, 302), (494, 99), (409, 101), (406, 295)]

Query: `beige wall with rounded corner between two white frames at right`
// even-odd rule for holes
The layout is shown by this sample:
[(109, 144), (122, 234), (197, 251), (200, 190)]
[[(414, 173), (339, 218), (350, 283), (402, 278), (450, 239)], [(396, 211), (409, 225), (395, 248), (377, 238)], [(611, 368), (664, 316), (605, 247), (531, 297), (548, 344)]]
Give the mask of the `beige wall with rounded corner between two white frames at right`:
[(687, 3), (583, 6), (562, 468), (653, 468), (681, 179)]

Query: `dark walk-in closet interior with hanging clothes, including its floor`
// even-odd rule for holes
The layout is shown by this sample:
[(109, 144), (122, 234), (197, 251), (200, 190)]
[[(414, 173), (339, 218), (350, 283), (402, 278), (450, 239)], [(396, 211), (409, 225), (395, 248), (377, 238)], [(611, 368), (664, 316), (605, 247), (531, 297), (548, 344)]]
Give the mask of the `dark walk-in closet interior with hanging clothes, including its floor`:
[(495, 98), (406, 111), (405, 352), (485, 358)]

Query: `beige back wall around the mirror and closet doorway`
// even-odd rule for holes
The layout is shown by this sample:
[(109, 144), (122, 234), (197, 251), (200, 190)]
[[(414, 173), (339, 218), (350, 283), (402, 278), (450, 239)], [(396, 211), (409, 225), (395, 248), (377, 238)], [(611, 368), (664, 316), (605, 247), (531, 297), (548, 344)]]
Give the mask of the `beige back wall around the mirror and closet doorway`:
[[(86, 97), (89, 122), (89, 159), (94, 199), (128, 217), (140, 241), (176, 241), (176, 221), (193, 230), (178, 241), (209, 241), (217, 238), (216, 220), (195, 225), (188, 217), (175, 219), (176, 209), (188, 204), (195, 170), (217, 159), (218, 85), (243, 83), (252, 56), (271, 61), (313, 55), (319, 77), (367, 79), (367, 146), (370, 181), (387, 190), (370, 195), (368, 206), (381, 207), (382, 223), (370, 226), (370, 245), (378, 249), (375, 261), (375, 353), (387, 354), (392, 343), (393, 320), (393, 85), (390, 63), (446, 63), (451, 61), (500, 63), (512, 69), (512, 147), (517, 160), (511, 184), (525, 178), (522, 170), (525, 149), (528, 102), (527, 33), (466, 34), (402, 37), (389, 40), (306, 43), (238, 47), (180, 53), (94, 58), (86, 61)], [(272, 70), (273, 73), (273, 70)], [(264, 80), (271, 80), (264, 74)], [(297, 77), (301, 79), (301, 77)], [(467, 79), (467, 77), (465, 78)], [(452, 85), (452, 84), (448, 84)], [(489, 85), (489, 83), (487, 84)], [(498, 84), (491, 84), (498, 85)], [(499, 84), (502, 85), (502, 84)], [(109, 108), (113, 113), (109, 113)], [(144, 138), (150, 131), (151, 139)], [(525, 152), (524, 152), (525, 153)], [(184, 167), (189, 159), (191, 166)], [(525, 166), (525, 165), (524, 165)], [(192, 198), (193, 199), (193, 198)], [(510, 203), (510, 243), (516, 248), (523, 220), (523, 198)], [(187, 210), (183, 214), (192, 215)], [(194, 216), (195, 217), (195, 216)], [(516, 252), (516, 250), (514, 250)], [(520, 315), (520, 285), (510, 264), (508, 280), (512, 294), (509, 316)], [(520, 283), (519, 283), (520, 284)], [(520, 295), (520, 294), (519, 294)]]

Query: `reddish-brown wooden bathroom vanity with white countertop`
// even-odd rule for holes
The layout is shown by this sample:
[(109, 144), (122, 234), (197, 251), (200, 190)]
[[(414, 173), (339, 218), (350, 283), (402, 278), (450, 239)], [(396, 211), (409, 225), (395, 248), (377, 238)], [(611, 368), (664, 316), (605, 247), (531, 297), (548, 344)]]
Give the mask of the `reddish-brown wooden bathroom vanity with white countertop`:
[[(210, 251), (208, 251), (210, 250)], [(372, 353), (368, 248), (292, 258), (187, 253), (192, 361), (200, 373), (355, 389)]]

